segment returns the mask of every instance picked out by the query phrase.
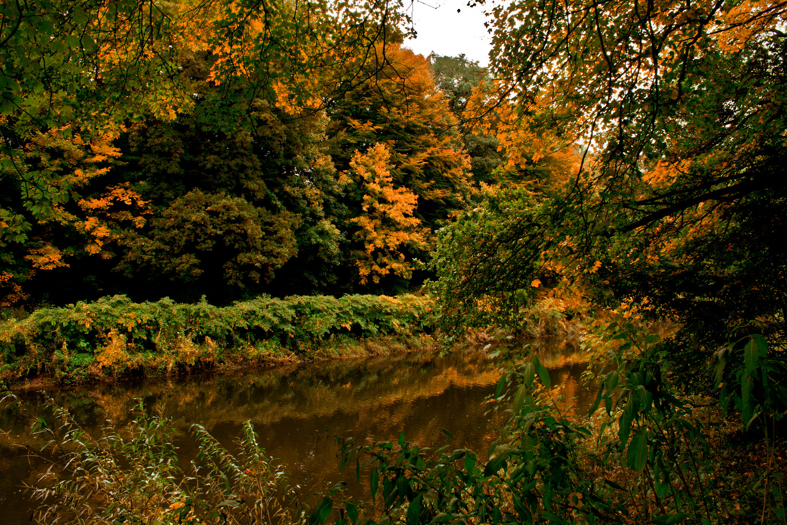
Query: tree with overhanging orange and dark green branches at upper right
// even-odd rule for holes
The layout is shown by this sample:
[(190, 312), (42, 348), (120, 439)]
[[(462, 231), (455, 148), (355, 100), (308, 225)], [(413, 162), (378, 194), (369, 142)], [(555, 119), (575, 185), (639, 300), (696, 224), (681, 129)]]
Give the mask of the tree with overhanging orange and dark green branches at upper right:
[(568, 282), (600, 261), (597, 301), (676, 316), (707, 349), (737, 324), (781, 319), (784, 7), (526, 1), (492, 12), (497, 83), (468, 103), (478, 128), (497, 129), (509, 163), (586, 147), (571, 189), (538, 220), (552, 235), (528, 253)]

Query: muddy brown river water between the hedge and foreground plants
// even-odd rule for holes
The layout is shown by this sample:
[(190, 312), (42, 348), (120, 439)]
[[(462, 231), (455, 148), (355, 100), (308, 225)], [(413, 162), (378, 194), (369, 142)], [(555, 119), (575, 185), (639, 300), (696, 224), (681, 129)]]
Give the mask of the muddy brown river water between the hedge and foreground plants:
[[(566, 342), (548, 342), (538, 351), (549, 369), (552, 384), (562, 386), (571, 405), (588, 407), (590, 393), (580, 375), (587, 361)], [(81, 388), (50, 390), (48, 395), (65, 406), (88, 431), (108, 421), (122, 425), (142, 400), (159, 406), (177, 420), (185, 434), (191, 423), (201, 423), (226, 446), (251, 420), (260, 444), (279, 458), (290, 472), (290, 482), (302, 494), (320, 490), (349, 475), (338, 473), (334, 435), (396, 439), (401, 432), (420, 446), (466, 447), (479, 459), (497, 438), (501, 416), (485, 415), (500, 379), (500, 365), (477, 351), (409, 353), (364, 360), (335, 360), (275, 368), (192, 375), (138, 383), (105, 383)], [(46, 460), (30, 451), (41, 442), (31, 435), (41, 392), (18, 396), (26, 411), (0, 412), (0, 522), (30, 523), (35, 506), (24, 494), (47, 468)], [(449, 441), (442, 429), (453, 434)], [(177, 442), (181, 459), (196, 456), (189, 438)], [(361, 490), (358, 488), (357, 490)]]

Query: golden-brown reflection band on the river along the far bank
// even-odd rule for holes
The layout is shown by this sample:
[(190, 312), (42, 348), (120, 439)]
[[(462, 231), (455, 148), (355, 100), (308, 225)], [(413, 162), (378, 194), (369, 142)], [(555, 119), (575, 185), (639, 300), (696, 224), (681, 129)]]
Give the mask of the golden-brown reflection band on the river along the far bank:
[[(52, 395), (87, 427), (106, 418), (125, 423), (136, 398), (145, 405), (161, 405), (165, 412), (188, 423), (211, 428), (219, 422), (271, 424), (286, 418), (330, 416), (336, 411), (374, 412), (387, 405), (405, 405), (418, 397), (433, 397), (449, 386), (469, 388), (497, 383), (497, 366), (477, 353), (434, 353), (338, 360), (321, 364), (234, 371), (215, 375), (164, 379), (158, 382), (106, 383), (82, 389), (64, 389)], [(24, 393), (28, 407), (42, 405), (43, 395)], [(35, 409), (33, 409), (35, 413)], [(2, 413), (3, 428), (29, 437), (18, 413)], [(397, 413), (390, 417), (401, 420)], [(13, 433), (13, 432), (12, 432)], [(24, 434), (24, 435), (23, 435)], [(18, 441), (17, 441), (18, 442)]]

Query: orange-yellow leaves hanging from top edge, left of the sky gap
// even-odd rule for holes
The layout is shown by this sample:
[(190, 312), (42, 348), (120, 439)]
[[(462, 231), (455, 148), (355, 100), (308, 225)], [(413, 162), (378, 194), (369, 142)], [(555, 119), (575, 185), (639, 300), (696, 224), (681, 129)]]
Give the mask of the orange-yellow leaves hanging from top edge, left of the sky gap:
[[(343, 2), (273, 2), (262, 8), (242, 2), (190, 3), (200, 14), (183, 31), (183, 46), (210, 53), (206, 80), (212, 85), (241, 80), (264, 86), (276, 105), (291, 115), (322, 109), (324, 95), (335, 90), (343, 76), (356, 77), (369, 59), (355, 51), (357, 46), (365, 50), (368, 41), (348, 31), (354, 24), (364, 27), (364, 22), (347, 16), (348, 12), (342, 16), (348, 8), (339, 5)], [(379, 13), (361, 9), (357, 14), (373, 24)], [(215, 20), (221, 20), (220, 31)], [(260, 55), (265, 57), (264, 65)]]

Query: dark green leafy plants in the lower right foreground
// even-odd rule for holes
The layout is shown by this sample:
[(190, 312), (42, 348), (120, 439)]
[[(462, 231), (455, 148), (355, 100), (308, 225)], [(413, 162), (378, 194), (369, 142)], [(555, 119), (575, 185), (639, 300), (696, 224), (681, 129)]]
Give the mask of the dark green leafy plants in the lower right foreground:
[(421, 448), (404, 434), (397, 444), (340, 441), (342, 468), (354, 468), (371, 501), (327, 495), (310, 522), (324, 523), (335, 505), (338, 525), (785, 523), (772, 434), (765, 460), (741, 470), (730, 421), (674, 388), (659, 337), (610, 324), (586, 344), (597, 354), (589, 376), (599, 386), (589, 419), (561, 408), (535, 356), (506, 353), (493, 401), (509, 418), (489, 460)]

